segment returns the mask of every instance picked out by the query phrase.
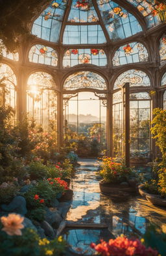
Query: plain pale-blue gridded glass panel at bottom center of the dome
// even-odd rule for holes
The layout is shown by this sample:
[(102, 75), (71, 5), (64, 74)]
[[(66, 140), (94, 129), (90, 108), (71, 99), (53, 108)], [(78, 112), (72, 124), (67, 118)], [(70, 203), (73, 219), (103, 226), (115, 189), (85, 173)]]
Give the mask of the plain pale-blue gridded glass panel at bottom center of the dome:
[(66, 25), (63, 44), (104, 44), (101, 25)]

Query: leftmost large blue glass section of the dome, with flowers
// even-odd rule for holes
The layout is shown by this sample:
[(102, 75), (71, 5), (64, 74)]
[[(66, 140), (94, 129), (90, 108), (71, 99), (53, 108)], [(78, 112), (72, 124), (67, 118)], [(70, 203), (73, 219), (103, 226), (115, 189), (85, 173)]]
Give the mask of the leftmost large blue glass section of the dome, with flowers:
[(32, 34), (47, 41), (58, 42), (67, 0), (52, 1), (34, 21)]

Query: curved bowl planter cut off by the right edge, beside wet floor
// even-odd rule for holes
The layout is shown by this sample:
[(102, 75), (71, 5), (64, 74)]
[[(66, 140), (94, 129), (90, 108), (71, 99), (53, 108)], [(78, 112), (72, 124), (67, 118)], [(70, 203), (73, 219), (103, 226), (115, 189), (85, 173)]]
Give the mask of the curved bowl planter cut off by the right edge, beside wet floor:
[(145, 197), (147, 201), (152, 203), (153, 205), (166, 207), (166, 199), (161, 198), (160, 195), (147, 193), (145, 190), (143, 190), (143, 187), (143, 184), (138, 186), (139, 193), (142, 197)]

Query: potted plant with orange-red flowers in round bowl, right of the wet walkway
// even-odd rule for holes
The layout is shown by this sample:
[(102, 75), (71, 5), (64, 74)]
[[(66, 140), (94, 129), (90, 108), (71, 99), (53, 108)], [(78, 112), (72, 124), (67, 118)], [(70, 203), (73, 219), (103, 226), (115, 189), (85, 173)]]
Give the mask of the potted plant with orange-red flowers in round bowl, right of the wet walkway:
[(100, 175), (102, 180), (99, 186), (102, 193), (124, 197), (136, 192), (136, 175), (123, 162), (115, 162), (113, 158), (108, 157), (102, 158)]

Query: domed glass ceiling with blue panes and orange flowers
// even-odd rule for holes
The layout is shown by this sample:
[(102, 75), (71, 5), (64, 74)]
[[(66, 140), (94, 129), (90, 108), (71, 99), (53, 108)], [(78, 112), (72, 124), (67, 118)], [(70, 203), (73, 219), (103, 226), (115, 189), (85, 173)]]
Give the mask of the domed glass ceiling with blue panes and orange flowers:
[(154, 11), (153, 0), (121, 2), (125, 4), (126, 1), (130, 5), (127, 7), (129, 11), (112, 0), (51, 1), (34, 21), (32, 34), (43, 40), (54, 43), (61, 43), (61, 40), (69, 45), (116, 42), (143, 31), (132, 14), (136, 8), (140, 20), (145, 17), (147, 29), (161, 23), (161, 17)]

